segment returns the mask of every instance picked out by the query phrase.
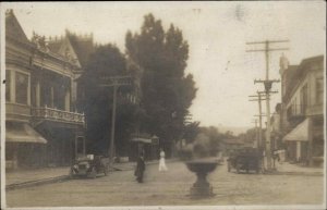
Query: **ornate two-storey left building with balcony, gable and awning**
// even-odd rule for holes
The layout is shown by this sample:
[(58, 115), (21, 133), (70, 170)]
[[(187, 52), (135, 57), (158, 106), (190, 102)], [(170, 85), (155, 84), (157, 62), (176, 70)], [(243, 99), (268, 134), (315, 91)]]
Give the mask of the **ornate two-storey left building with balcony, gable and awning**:
[[(75, 108), (81, 61), (69, 44), (24, 34), (5, 13), (5, 163), (68, 165), (83, 152), (84, 114)], [(84, 147), (85, 148), (85, 147)]]

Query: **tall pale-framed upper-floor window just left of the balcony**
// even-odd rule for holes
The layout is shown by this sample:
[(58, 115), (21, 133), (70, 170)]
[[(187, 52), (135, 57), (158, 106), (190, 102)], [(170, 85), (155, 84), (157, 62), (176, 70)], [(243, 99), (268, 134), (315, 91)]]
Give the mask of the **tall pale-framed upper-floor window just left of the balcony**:
[(16, 89), (16, 103), (27, 104), (28, 75), (16, 72), (15, 89)]

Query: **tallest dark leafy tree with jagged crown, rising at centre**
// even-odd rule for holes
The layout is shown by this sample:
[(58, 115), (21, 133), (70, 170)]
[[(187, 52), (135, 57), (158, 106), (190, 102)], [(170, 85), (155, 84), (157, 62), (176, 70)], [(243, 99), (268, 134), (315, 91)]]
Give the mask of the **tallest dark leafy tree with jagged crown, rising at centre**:
[(191, 74), (185, 75), (189, 45), (172, 24), (165, 32), (161, 21), (148, 14), (141, 33), (128, 32), (126, 54), (143, 70), (141, 106), (145, 110), (141, 129), (158, 135), (161, 146), (181, 138), (184, 120), (195, 98)]

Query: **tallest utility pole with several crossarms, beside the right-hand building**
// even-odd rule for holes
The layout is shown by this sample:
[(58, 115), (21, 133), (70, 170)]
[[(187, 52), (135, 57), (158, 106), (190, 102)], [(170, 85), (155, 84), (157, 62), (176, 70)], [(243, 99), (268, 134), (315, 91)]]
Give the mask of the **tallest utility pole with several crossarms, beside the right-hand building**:
[(267, 131), (266, 131), (266, 157), (267, 157), (267, 170), (271, 170), (271, 148), (270, 148), (270, 89), (272, 83), (278, 83), (279, 79), (269, 79), (269, 52), (270, 51), (284, 51), (289, 50), (288, 48), (270, 48), (270, 44), (281, 44), (289, 42), (289, 40), (265, 40), (265, 41), (255, 41), (255, 42), (246, 42), (246, 45), (265, 45), (264, 49), (257, 50), (246, 50), (246, 52), (265, 52), (266, 60), (266, 79), (255, 79), (254, 83), (263, 83), (265, 86), (266, 92), (266, 112), (267, 112)]

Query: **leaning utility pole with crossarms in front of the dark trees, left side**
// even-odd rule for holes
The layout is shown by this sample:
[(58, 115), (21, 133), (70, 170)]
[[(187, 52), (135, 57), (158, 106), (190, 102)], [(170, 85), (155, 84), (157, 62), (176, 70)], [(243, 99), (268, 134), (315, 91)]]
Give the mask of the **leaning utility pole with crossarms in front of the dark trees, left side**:
[(111, 138), (109, 147), (110, 162), (113, 163), (113, 151), (114, 151), (114, 123), (116, 123), (116, 103), (117, 103), (117, 89), (120, 86), (131, 85), (131, 76), (110, 76), (104, 77), (102, 87), (113, 87), (113, 99), (112, 99), (112, 114), (111, 114)]

